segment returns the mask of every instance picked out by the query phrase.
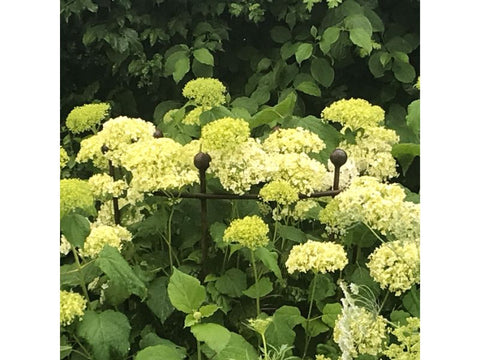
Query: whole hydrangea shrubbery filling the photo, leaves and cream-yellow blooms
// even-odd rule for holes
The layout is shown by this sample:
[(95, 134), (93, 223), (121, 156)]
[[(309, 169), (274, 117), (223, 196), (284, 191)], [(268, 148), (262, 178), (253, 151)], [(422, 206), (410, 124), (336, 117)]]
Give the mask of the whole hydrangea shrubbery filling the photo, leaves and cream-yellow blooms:
[(61, 9), (62, 358), (418, 359), (417, 1)]

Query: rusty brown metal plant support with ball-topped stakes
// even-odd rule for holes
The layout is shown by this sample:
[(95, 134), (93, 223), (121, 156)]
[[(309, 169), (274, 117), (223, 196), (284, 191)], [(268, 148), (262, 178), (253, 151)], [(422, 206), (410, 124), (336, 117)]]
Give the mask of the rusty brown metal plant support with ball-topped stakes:
[[(160, 134), (157, 134), (157, 136)], [(162, 134), (163, 135), (163, 134)], [(155, 135), (154, 135), (155, 136)], [(161, 137), (161, 136), (158, 136)], [(104, 145), (102, 147), (102, 152), (108, 151), (108, 148)], [(157, 196), (165, 197), (174, 197), (174, 198), (184, 198), (184, 199), (199, 199), (200, 200), (200, 219), (202, 224), (202, 237), (201, 237), (201, 248), (202, 248), (202, 265), (205, 266), (205, 262), (208, 255), (208, 221), (207, 221), (207, 200), (219, 200), (219, 199), (230, 199), (230, 200), (257, 200), (261, 201), (261, 198), (258, 194), (218, 194), (218, 193), (207, 193), (207, 178), (206, 171), (210, 166), (210, 161), (212, 158), (207, 153), (199, 152), (195, 155), (193, 163), (199, 171), (200, 177), (200, 192), (179, 192), (179, 191), (156, 191), (153, 194)], [(347, 154), (342, 149), (335, 149), (330, 154), (330, 160), (335, 167), (333, 173), (333, 186), (331, 190), (315, 192), (310, 195), (299, 194), (299, 199), (311, 199), (311, 198), (320, 198), (326, 196), (336, 196), (341, 190), (339, 189), (340, 184), (340, 167), (342, 167), (347, 162)], [(110, 176), (115, 180), (115, 169), (112, 166), (112, 162), (109, 160), (109, 172)], [(118, 209), (118, 198), (113, 198), (113, 213), (115, 218), (115, 224), (120, 224), (120, 211)]]

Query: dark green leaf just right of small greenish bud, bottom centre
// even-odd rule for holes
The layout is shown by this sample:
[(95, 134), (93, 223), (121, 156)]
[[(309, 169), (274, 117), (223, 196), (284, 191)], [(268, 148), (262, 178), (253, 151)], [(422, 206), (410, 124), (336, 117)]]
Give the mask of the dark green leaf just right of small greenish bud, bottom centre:
[(275, 311), (272, 322), (265, 331), (267, 343), (275, 347), (280, 347), (283, 344), (293, 345), (295, 341), (293, 328), (304, 321), (305, 318), (300, 314), (298, 308), (288, 305), (282, 306)]

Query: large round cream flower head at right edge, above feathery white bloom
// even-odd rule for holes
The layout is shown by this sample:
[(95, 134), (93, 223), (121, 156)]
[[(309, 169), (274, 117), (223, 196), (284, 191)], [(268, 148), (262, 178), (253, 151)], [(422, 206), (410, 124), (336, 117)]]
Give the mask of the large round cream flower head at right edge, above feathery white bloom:
[(382, 289), (400, 296), (420, 282), (418, 241), (395, 240), (383, 243), (368, 257), (367, 267)]

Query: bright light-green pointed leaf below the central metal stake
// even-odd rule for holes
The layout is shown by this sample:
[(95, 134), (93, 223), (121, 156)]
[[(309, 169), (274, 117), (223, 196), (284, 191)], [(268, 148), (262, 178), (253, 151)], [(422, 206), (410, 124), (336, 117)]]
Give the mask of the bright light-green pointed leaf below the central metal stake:
[(186, 314), (197, 311), (207, 296), (198, 279), (175, 268), (167, 291), (172, 305)]

